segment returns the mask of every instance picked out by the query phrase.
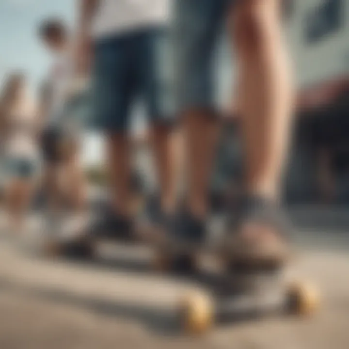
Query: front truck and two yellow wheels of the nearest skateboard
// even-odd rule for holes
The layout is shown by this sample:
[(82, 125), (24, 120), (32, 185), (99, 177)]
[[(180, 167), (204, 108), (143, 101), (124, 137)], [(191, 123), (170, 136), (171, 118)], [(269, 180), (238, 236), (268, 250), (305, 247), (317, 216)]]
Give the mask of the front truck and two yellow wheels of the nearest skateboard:
[(287, 282), (270, 272), (244, 275), (245, 280), (235, 278), (234, 282), (231, 275), (221, 277), (225, 280), (218, 289), (195, 290), (179, 301), (178, 320), (186, 333), (203, 334), (214, 324), (268, 315), (310, 316), (320, 303), (317, 288), (311, 283)]

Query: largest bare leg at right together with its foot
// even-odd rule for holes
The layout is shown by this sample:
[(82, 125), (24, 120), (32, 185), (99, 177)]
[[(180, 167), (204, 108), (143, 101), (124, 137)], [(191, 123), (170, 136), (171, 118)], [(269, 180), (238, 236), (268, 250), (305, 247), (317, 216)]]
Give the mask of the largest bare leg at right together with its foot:
[[(245, 190), (247, 196), (254, 199), (246, 204), (250, 205), (243, 213), (247, 216), (238, 227), (239, 234), (232, 236), (230, 252), (239, 255), (243, 251), (242, 258), (248, 259), (258, 254), (260, 261), (269, 260), (277, 265), (286, 260), (288, 253), (282, 234), (279, 234), (288, 229), (288, 224), (277, 203), (293, 105), (290, 66), (282, 33), (281, 2), (240, 1), (232, 12), (239, 68)], [(257, 207), (249, 208), (255, 205)], [(250, 219), (246, 213), (258, 207), (260, 214), (268, 216), (264, 221)], [(239, 245), (240, 242), (244, 247)]]

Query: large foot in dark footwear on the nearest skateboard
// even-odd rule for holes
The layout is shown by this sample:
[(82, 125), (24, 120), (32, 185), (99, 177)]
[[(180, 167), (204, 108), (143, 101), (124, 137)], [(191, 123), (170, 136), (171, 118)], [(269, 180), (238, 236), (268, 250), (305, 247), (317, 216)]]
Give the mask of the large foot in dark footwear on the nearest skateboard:
[(232, 268), (278, 268), (289, 255), (290, 224), (283, 209), (262, 197), (246, 197), (227, 225), (225, 253)]

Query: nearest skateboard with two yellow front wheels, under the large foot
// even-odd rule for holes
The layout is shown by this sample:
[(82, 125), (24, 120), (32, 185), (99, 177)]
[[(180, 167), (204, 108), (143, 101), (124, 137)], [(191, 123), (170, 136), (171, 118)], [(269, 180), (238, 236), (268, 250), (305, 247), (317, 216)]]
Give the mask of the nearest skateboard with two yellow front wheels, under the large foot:
[(316, 286), (287, 277), (290, 260), (281, 267), (255, 263), (239, 266), (222, 253), (224, 249), (220, 244), (192, 249), (178, 241), (167, 243), (167, 248), (159, 249), (156, 254), (159, 269), (166, 271), (179, 265), (195, 274), (202, 269), (205, 257), (216, 262), (215, 275), (210, 282), (201, 283), (198, 290), (179, 301), (178, 320), (187, 333), (202, 334), (215, 323), (268, 315), (308, 316), (319, 306)]

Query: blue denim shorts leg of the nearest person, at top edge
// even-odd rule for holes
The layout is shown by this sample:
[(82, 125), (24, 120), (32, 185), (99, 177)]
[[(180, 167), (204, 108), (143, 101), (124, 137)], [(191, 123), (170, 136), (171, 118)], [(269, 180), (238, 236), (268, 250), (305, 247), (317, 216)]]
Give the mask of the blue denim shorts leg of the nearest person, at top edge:
[(214, 58), (233, 0), (174, 0), (176, 108), (214, 108)]

